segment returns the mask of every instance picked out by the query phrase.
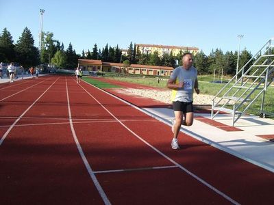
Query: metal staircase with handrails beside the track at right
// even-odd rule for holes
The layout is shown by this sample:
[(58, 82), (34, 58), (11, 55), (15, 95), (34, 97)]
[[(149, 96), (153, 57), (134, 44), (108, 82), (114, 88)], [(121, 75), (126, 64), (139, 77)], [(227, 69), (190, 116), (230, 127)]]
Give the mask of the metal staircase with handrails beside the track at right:
[[(274, 38), (266, 42), (238, 73), (212, 99), (211, 118), (223, 111), (232, 114), (232, 126), (262, 96), (260, 115), (264, 115), (264, 95), (274, 80)], [(263, 53), (263, 54), (262, 54)], [(262, 55), (261, 55), (262, 54)], [(258, 57), (260, 55), (260, 57)], [(255, 57), (258, 59), (255, 60)], [(252, 64), (252, 62), (254, 63)], [(252, 66), (249, 66), (252, 64)], [(237, 78), (239, 77), (240, 78)], [(262, 117), (262, 116), (261, 116)]]

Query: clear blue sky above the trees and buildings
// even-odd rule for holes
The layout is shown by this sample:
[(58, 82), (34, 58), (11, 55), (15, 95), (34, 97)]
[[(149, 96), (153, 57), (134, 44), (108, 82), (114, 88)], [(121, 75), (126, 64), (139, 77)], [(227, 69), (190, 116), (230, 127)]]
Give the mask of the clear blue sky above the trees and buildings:
[[(39, 44), (42, 31), (76, 53), (117, 44), (195, 46), (209, 55), (247, 49), (255, 55), (274, 37), (273, 0), (0, 0), (0, 32), (14, 43), (27, 27)], [(239, 39), (238, 35), (244, 37)]]

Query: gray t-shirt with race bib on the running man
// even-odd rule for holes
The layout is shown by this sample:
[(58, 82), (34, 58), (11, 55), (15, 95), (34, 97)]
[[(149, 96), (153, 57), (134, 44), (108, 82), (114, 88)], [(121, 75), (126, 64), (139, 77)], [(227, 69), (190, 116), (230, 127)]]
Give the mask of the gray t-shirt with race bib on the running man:
[(179, 66), (173, 70), (171, 79), (175, 83), (184, 83), (184, 87), (172, 90), (171, 100), (181, 102), (193, 101), (193, 90), (197, 79), (197, 69), (191, 66), (188, 70)]

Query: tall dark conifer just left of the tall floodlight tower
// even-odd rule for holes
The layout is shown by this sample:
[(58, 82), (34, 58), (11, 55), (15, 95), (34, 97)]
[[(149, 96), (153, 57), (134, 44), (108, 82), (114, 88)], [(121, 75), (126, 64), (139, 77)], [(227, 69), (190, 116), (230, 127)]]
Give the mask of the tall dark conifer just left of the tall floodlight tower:
[(16, 59), (23, 67), (28, 68), (39, 64), (39, 51), (34, 46), (31, 31), (25, 27), (21, 37), (15, 45)]

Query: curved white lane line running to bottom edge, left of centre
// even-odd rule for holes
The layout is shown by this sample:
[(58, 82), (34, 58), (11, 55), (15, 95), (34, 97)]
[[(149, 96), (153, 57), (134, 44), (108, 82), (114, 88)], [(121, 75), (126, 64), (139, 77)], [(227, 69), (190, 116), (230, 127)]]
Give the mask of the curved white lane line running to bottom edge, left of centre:
[(95, 173), (93, 172), (93, 170), (91, 169), (90, 167), (90, 164), (88, 163), (88, 160), (86, 159), (86, 156), (84, 154), (84, 151), (82, 149), (82, 146), (80, 145), (78, 139), (77, 139), (77, 135), (75, 133), (75, 130), (74, 130), (74, 126), (73, 126), (73, 120), (72, 120), (72, 117), (71, 117), (71, 105), (70, 105), (70, 102), (69, 102), (69, 90), (68, 90), (68, 84), (67, 84), (67, 81), (66, 81), (66, 98), (67, 98), (67, 101), (68, 101), (68, 110), (69, 110), (69, 123), (71, 125), (71, 133), (73, 134), (73, 139), (76, 143), (76, 146), (77, 146), (77, 149), (79, 151), (79, 154), (80, 156), (82, 157), (82, 160), (84, 162), (84, 165), (86, 166), (86, 169), (88, 170), (88, 174), (90, 174), (90, 178), (92, 179), (92, 181), (94, 182), (95, 184), (95, 187), (97, 188), (99, 194), (101, 195), (101, 198), (103, 200), (103, 202), (105, 204), (110, 204), (110, 201), (108, 200), (108, 197), (107, 195), (105, 195), (105, 192), (103, 191), (103, 188), (101, 187), (101, 185), (99, 184), (99, 181), (97, 180), (96, 176), (95, 176)]

